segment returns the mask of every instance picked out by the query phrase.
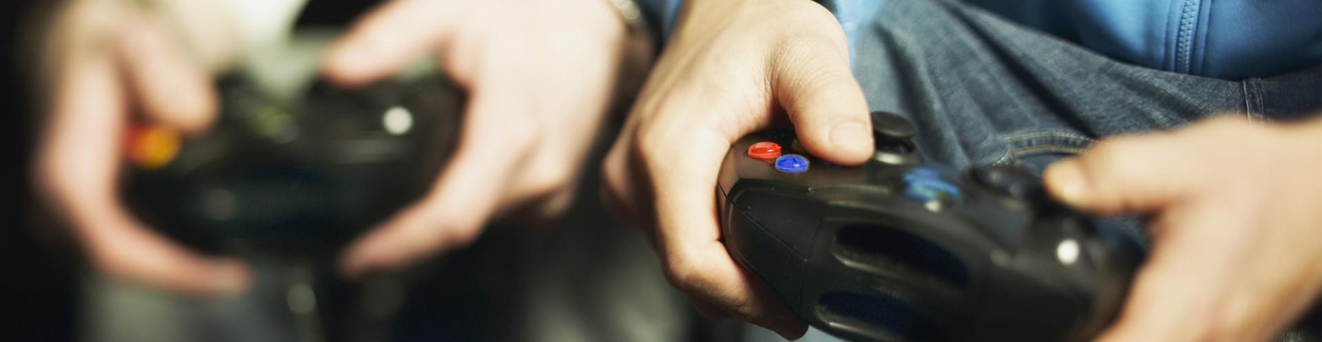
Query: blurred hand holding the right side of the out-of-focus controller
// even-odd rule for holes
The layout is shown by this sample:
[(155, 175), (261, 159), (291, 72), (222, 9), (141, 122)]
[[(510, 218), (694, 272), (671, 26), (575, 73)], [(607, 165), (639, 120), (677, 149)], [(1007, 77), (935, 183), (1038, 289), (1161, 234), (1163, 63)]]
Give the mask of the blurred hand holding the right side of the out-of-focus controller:
[(352, 243), (341, 272), (464, 246), (502, 213), (562, 211), (605, 119), (625, 40), (602, 0), (394, 0), (353, 25), (327, 57), (332, 81), (361, 85), (435, 51), (468, 104), (459, 149), (430, 193)]

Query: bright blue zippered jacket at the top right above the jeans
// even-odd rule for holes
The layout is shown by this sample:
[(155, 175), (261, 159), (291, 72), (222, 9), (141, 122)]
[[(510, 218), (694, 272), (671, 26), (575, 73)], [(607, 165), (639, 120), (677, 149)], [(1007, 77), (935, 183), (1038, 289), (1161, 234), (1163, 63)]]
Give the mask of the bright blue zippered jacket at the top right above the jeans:
[[(824, 0), (850, 40), (886, 0)], [(966, 0), (1151, 69), (1244, 79), (1322, 63), (1319, 0)], [(642, 0), (662, 34), (681, 0)]]

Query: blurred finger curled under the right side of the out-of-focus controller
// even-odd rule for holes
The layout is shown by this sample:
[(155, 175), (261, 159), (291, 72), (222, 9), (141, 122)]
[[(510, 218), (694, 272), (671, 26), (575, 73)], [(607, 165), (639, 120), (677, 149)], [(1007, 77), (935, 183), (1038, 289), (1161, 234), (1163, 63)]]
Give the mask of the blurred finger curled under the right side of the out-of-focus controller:
[(453, 160), (422, 201), (349, 246), (341, 260), (345, 276), (395, 268), (477, 236), (539, 129), (526, 108), (504, 95), (473, 92)]

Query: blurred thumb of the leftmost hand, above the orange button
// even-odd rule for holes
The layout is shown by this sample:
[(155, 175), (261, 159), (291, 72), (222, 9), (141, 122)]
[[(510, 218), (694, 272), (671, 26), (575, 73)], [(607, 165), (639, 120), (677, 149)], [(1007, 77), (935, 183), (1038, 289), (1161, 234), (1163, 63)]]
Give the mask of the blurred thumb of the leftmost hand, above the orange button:
[(143, 112), (185, 132), (204, 129), (217, 112), (210, 77), (178, 53), (160, 25), (136, 17), (122, 28), (116, 53)]

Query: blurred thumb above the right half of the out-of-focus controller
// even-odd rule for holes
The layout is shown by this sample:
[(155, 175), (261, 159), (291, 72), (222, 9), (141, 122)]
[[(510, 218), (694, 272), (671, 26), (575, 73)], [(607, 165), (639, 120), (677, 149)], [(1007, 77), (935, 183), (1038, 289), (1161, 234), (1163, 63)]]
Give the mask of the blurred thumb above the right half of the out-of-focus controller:
[(394, 74), (448, 40), (467, 1), (394, 0), (353, 24), (327, 53), (323, 71), (342, 85)]

